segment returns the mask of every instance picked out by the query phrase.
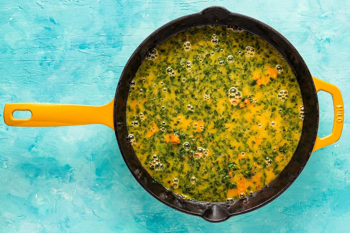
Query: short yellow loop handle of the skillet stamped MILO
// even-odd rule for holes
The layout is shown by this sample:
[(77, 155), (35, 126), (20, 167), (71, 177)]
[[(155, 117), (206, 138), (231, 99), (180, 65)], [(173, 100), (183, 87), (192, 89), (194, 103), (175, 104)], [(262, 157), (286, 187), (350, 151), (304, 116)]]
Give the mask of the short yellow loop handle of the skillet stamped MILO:
[(334, 122), (332, 132), (323, 138), (317, 136), (313, 149), (313, 151), (316, 151), (322, 147), (335, 143), (340, 138), (344, 123), (344, 104), (342, 94), (340, 93), (338, 87), (320, 79), (316, 79), (315, 77), (313, 77), (313, 80), (315, 83), (316, 92), (319, 90), (324, 90), (325, 92), (331, 94), (334, 105)]

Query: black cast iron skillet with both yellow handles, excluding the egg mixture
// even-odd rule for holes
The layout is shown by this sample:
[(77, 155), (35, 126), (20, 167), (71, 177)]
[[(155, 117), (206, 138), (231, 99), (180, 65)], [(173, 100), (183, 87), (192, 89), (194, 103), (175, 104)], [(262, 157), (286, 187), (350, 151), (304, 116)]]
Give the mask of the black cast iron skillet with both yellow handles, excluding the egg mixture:
[[(292, 67), (300, 85), (305, 111), (301, 139), (295, 154), (286, 168), (266, 187), (250, 196), (230, 203), (207, 203), (183, 200), (181, 196), (164, 188), (147, 173), (127, 139), (126, 101), (130, 82), (140, 64), (145, 59), (146, 54), (165, 39), (180, 31), (211, 24), (241, 27), (258, 35), (274, 46)], [(325, 90), (332, 94), (334, 101), (335, 118), (333, 131), (324, 138), (317, 137), (319, 120), (318, 90)], [(29, 110), (32, 116), (29, 119), (16, 119), (13, 117), (13, 112), (16, 110)], [(146, 191), (173, 209), (200, 216), (210, 222), (220, 222), (232, 216), (258, 209), (273, 201), (299, 176), (314, 150), (337, 141), (341, 135), (343, 126), (343, 100), (337, 87), (311, 77), (300, 54), (279, 32), (251, 17), (232, 13), (223, 7), (215, 6), (205, 8), (199, 13), (173, 20), (149, 35), (128, 60), (121, 73), (114, 101), (109, 104), (103, 106), (28, 103), (6, 104), (4, 120), (6, 124), (12, 126), (108, 125), (112, 129), (115, 129), (121, 155), (127, 167)]]

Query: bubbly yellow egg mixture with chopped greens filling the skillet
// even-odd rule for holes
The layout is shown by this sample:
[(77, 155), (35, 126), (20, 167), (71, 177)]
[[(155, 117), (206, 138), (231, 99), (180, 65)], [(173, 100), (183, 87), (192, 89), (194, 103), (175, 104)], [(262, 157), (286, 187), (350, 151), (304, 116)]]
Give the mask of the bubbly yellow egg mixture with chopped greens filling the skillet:
[(130, 84), (128, 139), (152, 177), (183, 199), (231, 202), (290, 161), (304, 108), (292, 69), (233, 26), (202, 26), (151, 50)]

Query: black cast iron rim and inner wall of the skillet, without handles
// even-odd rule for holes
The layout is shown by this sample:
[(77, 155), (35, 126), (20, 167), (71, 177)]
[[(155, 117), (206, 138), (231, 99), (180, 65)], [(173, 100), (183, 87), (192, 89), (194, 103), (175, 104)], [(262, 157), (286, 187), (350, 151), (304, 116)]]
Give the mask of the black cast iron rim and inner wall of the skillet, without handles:
[[(203, 25), (238, 26), (260, 36), (276, 48), (292, 67), (299, 82), (303, 97), (305, 117), (302, 135), (296, 152), (280, 175), (266, 187), (253, 195), (231, 203), (207, 203), (183, 200), (182, 197), (165, 189), (156, 182), (142, 167), (133, 148), (127, 140), (126, 101), (130, 82), (148, 51), (168, 37), (188, 28)], [(116, 138), (127, 167), (141, 186), (162, 203), (185, 213), (200, 216), (207, 221), (220, 222), (237, 214), (255, 210), (266, 205), (285, 191), (300, 174), (310, 157), (318, 128), (318, 101), (310, 72), (290, 42), (268, 25), (247, 17), (232, 13), (222, 7), (205, 8), (199, 13), (173, 20), (149, 35), (128, 60), (118, 83), (114, 102), (114, 128)]]

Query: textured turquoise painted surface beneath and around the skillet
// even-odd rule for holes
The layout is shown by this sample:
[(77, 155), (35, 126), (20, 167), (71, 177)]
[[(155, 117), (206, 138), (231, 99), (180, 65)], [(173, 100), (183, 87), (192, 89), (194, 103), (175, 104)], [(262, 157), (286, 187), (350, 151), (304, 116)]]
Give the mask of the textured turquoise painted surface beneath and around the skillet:
[[(5, 103), (105, 104), (152, 31), (212, 5), (261, 20), (344, 98), (341, 139), (314, 152), (272, 203), (212, 224), (156, 201), (134, 180), (104, 125), (10, 127), (0, 121), (0, 232), (349, 232), (349, 1), (2, 0), (0, 117)], [(331, 131), (329, 94), (320, 129)]]

